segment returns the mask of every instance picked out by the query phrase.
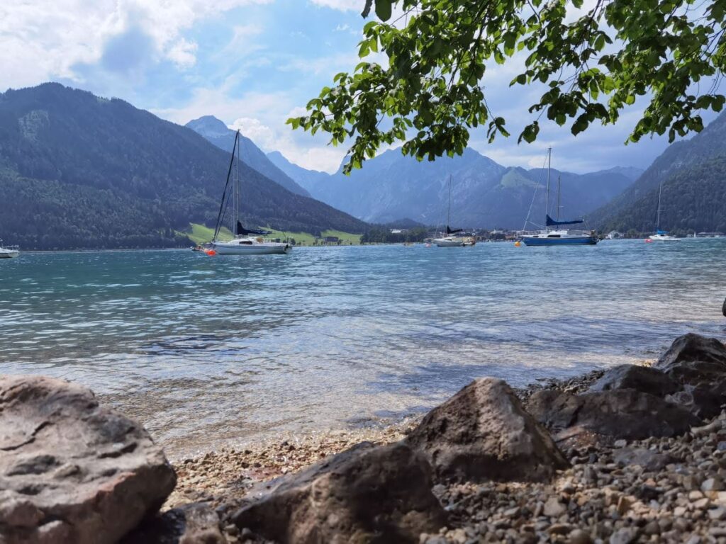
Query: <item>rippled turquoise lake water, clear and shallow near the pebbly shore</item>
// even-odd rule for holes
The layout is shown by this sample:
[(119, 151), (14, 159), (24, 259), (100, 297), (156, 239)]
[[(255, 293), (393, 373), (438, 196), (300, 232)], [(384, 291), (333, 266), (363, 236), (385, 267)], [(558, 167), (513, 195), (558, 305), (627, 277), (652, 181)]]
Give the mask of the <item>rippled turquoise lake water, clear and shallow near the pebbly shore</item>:
[(726, 239), (25, 253), (0, 261), (0, 368), (86, 384), (184, 453), (723, 337), (725, 260)]

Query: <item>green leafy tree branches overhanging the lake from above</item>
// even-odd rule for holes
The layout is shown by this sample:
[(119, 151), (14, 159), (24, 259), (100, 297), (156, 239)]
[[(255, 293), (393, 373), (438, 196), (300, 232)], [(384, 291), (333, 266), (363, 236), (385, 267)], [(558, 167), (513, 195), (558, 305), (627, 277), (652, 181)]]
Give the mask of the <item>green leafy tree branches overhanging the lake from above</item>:
[[(363, 3), (363, 0), (362, 0)], [(373, 0), (365, 0), (366, 17)], [(392, 18), (393, 8), (403, 15)], [(643, 96), (629, 141), (701, 131), (703, 110), (720, 111), (726, 0), (375, 0), (380, 21), (364, 26), (362, 59), (307, 104), (293, 128), (353, 140), (346, 173), (384, 144), (422, 160), (461, 154), (470, 131), (509, 136), (490, 110), (482, 78), (526, 55), (510, 86), (540, 85), (518, 141), (532, 142), (542, 115), (581, 133), (616, 123)], [(382, 52), (385, 63), (370, 59)], [(694, 84), (708, 78), (703, 88)], [(537, 92), (539, 94), (539, 91)], [(385, 123), (384, 123), (385, 120)]]

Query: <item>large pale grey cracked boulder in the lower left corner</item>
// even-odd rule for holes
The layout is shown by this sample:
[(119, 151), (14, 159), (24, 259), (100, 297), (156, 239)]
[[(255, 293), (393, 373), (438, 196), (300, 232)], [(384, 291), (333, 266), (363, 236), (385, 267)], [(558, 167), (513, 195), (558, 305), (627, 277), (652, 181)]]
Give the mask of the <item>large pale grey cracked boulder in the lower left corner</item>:
[(0, 378), (0, 542), (115, 543), (176, 484), (142, 426), (85, 387)]

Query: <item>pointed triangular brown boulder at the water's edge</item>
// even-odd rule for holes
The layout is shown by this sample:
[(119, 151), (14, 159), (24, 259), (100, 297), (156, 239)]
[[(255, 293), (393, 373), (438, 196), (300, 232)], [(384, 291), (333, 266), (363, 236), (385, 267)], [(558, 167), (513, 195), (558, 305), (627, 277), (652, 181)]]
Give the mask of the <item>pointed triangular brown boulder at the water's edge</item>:
[(429, 412), (407, 441), (444, 479), (542, 482), (568, 462), (506, 382), (477, 379)]

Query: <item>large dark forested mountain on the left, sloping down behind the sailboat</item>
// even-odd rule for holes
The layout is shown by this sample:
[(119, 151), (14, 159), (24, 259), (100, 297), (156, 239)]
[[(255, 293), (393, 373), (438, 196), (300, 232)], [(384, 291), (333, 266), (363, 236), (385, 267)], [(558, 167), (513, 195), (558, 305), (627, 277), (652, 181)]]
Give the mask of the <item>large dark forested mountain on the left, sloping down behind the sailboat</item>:
[[(214, 224), (229, 153), (119, 99), (57, 83), (0, 94), (0, 237), (25, 249), (160, 247)], [(249, 226), (365, 224), (242, 164)]]

